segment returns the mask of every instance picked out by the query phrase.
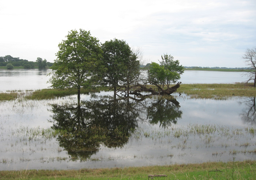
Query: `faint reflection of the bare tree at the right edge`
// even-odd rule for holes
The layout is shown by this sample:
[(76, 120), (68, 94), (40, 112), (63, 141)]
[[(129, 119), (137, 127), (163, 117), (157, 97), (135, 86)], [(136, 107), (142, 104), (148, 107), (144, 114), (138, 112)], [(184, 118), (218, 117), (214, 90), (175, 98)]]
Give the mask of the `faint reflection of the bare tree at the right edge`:
[(242, 119), (246, 123), (251, 123), (251, 125), (256, 124), (256, 103), (255, 103), (255, 97), (250, 97), (245, 102), (247, 108), (246, 111), (242, 114)]

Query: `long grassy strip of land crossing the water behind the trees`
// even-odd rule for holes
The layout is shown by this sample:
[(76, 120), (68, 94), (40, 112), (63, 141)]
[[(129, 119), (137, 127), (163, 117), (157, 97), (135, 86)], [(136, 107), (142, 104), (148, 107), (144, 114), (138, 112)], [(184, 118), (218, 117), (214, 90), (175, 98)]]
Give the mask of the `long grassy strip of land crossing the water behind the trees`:
[[(152, 85), (148, 85), (148, 88), (152, 88)], [(154, 88), (154, 87), (153, 87)], [(94, 88), (82, 88), (81, 94), (88, 94), (89, 92), (108, 91), (108, 87), (94, 87)], [(3, 100), (15, 100), (18, 97), (17, 91), (0, 93), (0, 101)], [(42, 100), (42, 99), (54, 99), (56, 97), (63, 97), (68, 95), (75, 95), (76, 89), (40, 89), (33, 91), (26, 96), (26, 99)], [(234, 96), (239, 97), (254, 97), (256, 95), (256, 89), (253, 88), (253, 84), (181, 84), (177, 89), (177, 93), (183, 93), (190, 98), (204, 98), (204, 99), (230, 99)], [(172, 96), (170, 96), (172, 97)]]

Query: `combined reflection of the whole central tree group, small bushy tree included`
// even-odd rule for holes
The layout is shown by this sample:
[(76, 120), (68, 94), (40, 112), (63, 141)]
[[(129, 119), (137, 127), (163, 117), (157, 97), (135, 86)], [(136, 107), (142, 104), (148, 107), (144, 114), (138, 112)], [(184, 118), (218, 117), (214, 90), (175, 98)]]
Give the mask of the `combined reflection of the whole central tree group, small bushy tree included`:
[(71, 160), (86, 161), (101, 145), (123, 148), (141, 120), (162, 127), (176, 124), (182, 114), (179, 107), (175, 99), (141, 102), (103, 98), (83, 101), (80, 107), (52, 104), (52, 128), (59, 131), (57, 141)]

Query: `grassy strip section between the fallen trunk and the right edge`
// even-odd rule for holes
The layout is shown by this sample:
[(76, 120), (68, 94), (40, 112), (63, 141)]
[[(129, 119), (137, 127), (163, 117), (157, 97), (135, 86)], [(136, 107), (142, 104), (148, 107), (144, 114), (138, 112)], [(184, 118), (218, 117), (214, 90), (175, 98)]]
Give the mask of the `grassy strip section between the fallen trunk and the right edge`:
[(228, 99), (232, 96), (256, 96), (252, 84), (181, 84), (178, 93), (185, 93), (191, 98)]

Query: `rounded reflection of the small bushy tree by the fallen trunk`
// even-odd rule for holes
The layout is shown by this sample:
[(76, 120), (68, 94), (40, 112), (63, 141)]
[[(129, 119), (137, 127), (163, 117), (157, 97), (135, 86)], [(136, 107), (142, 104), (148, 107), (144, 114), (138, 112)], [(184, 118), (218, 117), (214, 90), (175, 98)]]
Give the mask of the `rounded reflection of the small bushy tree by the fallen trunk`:
[(147, 108), (147, 118), (151, 119), (151, 124), (160, 124), (159, 126), (166, 128), (172, 124), (176, 124), (178, 118), (181, 118), (182, 111), (179, 110), (180, 105), (174, 98), (158, 99)]

